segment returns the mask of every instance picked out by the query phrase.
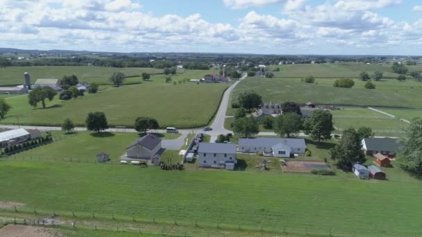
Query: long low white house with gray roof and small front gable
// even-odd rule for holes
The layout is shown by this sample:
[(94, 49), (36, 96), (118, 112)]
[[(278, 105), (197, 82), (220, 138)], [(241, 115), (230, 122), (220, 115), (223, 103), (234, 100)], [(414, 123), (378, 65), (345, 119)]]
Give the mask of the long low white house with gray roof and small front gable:
[(258, 137), (255, 139), (239, 139), (239, 152), (256, 153), (273, 157), (290, 157), (292, 154), (306, 152), (305, 139), (285, 139)]

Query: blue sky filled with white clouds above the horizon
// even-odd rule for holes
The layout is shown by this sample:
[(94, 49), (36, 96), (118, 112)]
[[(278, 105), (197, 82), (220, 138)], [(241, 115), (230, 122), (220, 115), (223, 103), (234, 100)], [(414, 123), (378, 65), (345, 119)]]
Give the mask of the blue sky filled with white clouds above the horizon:
[(421, 0), (0, 0), (0, 47), (422, 55)]

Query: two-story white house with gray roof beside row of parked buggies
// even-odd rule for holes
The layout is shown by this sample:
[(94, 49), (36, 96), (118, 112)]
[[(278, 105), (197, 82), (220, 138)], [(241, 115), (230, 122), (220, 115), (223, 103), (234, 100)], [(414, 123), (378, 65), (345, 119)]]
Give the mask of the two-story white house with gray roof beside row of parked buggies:
[(233, 170), (236, 161), (236, 144), (199, 143), (199, 167), (226, 168)]

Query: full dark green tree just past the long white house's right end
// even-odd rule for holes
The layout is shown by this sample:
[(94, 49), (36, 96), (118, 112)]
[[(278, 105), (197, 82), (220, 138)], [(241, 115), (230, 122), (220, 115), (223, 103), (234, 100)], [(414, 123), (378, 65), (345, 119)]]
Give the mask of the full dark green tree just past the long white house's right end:
[(310, 119), (306, 119), (303, 123), (305, 134), (309, 134), (312, 139), (331, 139), (332, 114), (329, 111), (316, 109)]

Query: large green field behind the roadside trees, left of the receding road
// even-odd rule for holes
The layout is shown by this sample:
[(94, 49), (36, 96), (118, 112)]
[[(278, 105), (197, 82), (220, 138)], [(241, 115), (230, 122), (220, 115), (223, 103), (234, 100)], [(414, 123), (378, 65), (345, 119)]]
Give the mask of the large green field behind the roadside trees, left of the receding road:
[(12, 106), (3, 124), (60, 125), (65, 118), (84, 125), (89, 112), (100, 111), (109, 125), (133, 126), (138, 116), (151, 116), (161, 128), (198, 128), (208, 124), (217, 110), (227, 83), (201, 84), (144, 82), (140, 85), (109, 87), (98, 94), (68, 101), (47, 102), (47, 108), (33, 108), (28, 97), (8, 99)]

